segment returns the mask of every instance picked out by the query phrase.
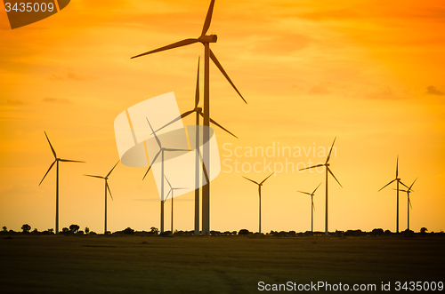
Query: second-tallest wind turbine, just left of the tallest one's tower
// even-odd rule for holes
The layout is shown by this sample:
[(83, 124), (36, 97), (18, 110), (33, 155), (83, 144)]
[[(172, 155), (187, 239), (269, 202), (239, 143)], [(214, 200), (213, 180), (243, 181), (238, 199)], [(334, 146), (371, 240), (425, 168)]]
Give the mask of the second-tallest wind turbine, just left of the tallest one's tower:
[[(195, 162), (195, 234), (199, 234), (199, 115), (204, 117), (204, 114), (202, 112), (202, 107), (198, 107), (199, 105), (199, 59), (198, 59), (198, 75), (197, 75), (197, 81), (196, 81), (196, 91), (195, 91), (195, 107), (189, 111), (184, 112), (182, 115), (176, 117), (173, 121), (170, 123), (167, 123), (163, 127), (159, 128), (157, 131), (160, 131), (164, 129), (166, 126), (179, 121), (180, 119), (191, 115), (192, 113), (196, 113), (196, 162)], [(238, 139), (237, 136), (235, 136), (231, 131), (228, 131), (225, 129), (221, 124), (216, 123), (212, 118), (210, 118), (210, 123), (214, 123), (219, 128), (223, 129), (224, 131), (230, 133), (233, 137)], [(208, 181), (207, 181), (208, 182)]]

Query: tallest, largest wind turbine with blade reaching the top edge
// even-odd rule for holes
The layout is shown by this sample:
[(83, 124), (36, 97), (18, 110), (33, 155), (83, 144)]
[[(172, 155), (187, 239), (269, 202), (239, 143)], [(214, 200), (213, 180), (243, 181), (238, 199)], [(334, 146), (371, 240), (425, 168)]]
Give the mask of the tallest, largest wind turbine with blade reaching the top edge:
[[(162, 52), (169, 49), (174, 49), (178, 47), (182, 47), (185, 45), (195, 44), (200, 42), (204, 45), (204, 125), (209, 126), (210, 125), (210, 70), (209, 70), (209, 64), (210, 60), (214, 62), (214, 65), (223, 73), (225, 78), (229, 83), (231, 83), (231, 86), (241, 99), (244, 100), (245, 103), (247, 103), (246, 99), (243, 98), (241, 93), (238, 91), (237, 87), (234, 83), (231, 82), (231, 78), (227, 73), (225, 72), (223, 66), (221, 63), (216, 59), (216, 56), (214, 55), (214, 52), (210, 50), (210, 43), (216, 43), (217, 36), (216, 35), (206, 35), (208, 28), (210, 28), (210, 22), (212, 20), (212, 14), (214, 12), (214, 0), (210, 2), (210, 6), (207, 11), (206, 15), (206, 21), (204, 22), (204, 27), (201, 32), (201, 36), (198, 36), (198, 38), (189, 38), (184, 39), (182, 41), (176, 42), (174, 44), (169, 44), (164, 47), (160, 47), (158, 49), (144, 52), (142, 54), (136, 55), (132, 57), (132, 59), (141, 57), (144, 55), (148, 55), (151, 53), (156, 52)], [(206, 131), (204, 131), (204, 141), (207, 142), (208, 139), (210, 139), (210, 129), (206, 128)], [(207, 144), (204, 147), (204, 163), (206, 163), (206, 166), (209, 166), (210, 163), (210, 146)], [(208, 175), (207, 175), (208, 176)], [(207, 181), (206, 185), (203, 187), (203, 196), (202, 196), (202, 233), (203, 234), (210, 234), (210, 182)]]

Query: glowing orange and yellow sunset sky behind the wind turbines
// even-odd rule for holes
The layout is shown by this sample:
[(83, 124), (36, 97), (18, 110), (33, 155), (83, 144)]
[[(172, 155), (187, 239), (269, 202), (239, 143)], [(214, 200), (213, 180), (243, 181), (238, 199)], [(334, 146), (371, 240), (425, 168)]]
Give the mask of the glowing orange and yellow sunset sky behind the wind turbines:
[[(113, 123), (126, 108), (170, 91), (181, 112), (193, 107), (204, 47), (130, 57), (198, 37), (209, 3), (77, 0), (13, 30), (0, 4), (0, 226), (55, 226), (55, 169), (38, 186), (53, 163), (46, 131), (58, 156), (86, 162), (61, 163), (60, 226), (103, 233), (103, 180), (82, 175), (105, 176), (119, 159)], [(210, 228), (258, 230), (257, 187), (242, 176), (263, 180), (271, 163), (263, 232), (310, 230), (310, 196), (296, 191), (322, 181), (314, 229), (324, 231), (324, 172), (289, 167), (324, 162), (319, 151), (336, 137), (330, 163), (344, 188), (329, 178), (329, 231), (395, 231), (395, 184), (377, 191), (395, 178), (398, 155), (402, 182), (418, 177), (411, 229), (445, 230), (443, 32), (442, 0), (216, 0), (211, 48), (248, 104), (211, 64), (210, 116), (239, 139), (214, 129), (222, 172), (211, 185)], [(275, 155), (248, 156), (250, 147)], [(311, 150), (283, 156), (280, 147)], [(255, 163), (262, 172), (247, 172)], [(109, 177), (110, 231), (159, 227), (158, 190), (151, 173), (142, 181), (145, 171), (118, 164)], [(193, 229), (193, 199), (175, 198), (175, 229)], [(404, 230), (405, 193), (400, 205)]]

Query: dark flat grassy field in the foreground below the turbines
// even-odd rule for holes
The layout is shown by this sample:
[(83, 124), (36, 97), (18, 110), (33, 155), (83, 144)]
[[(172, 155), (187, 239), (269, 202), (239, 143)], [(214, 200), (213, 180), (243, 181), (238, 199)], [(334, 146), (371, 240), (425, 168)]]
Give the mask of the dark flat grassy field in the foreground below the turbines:
[(398, 281), (445, 282), (445, 238), (0, 239), (1, 293), (249, 293), (258, 282), (374, 283), (377, 290), (392, 282), (390, 292), (398, 292)]

